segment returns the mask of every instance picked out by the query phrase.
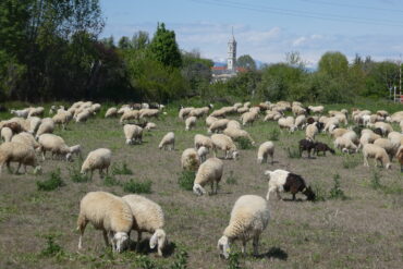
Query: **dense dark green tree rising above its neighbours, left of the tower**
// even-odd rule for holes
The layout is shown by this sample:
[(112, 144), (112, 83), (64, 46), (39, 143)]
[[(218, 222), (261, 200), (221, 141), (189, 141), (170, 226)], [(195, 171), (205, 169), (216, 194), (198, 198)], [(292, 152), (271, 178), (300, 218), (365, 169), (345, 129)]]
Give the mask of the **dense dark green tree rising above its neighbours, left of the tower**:
[(150, 57), (166, 66), (180, 68), (182, 65), (175, 33), (166, 29), (163, 23), (157, 26), (157, 32), (149, 45)]

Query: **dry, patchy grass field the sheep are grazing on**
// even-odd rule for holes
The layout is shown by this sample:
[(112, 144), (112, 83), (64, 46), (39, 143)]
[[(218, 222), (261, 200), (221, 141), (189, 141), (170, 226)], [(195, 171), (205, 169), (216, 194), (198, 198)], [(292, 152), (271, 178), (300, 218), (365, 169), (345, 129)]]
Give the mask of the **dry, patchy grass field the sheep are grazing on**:
[[(232, 262), (219, 258), (217, 241), (228, 225), (237, 197), (266, 196), (262, 173), (267, 169), (285, 169), (303, 175), (321, 200), (309, 203), (298, 196), (301, 200), (289, 201), (272, 196), (271, 220), (260, 237), (261, 255), (252, 256), (249, 242), (246, 257), (237, 258), (241, 268), (401, 268), (403, 176), (395, 160), (392, 170), (384, 170), (363, 167), (362, 154), (294, 158), (292, 151), (305, 133), (283, 132), (274, 140), (273, 166), (257, 164), (257, 148), (241, 150), (239, 161), (224, 160), (218, 195), (197, 197), (180, 188), (178, 178), (181, 154), (193, 146), (196, 133), (206, 134), (205, 123), (198, 122), (195, 130), (185, 132), (184, 123), (174, 113), (172, 108), (168, 117), (156, 120), (158, 129), (146, 133), (142, 145), (124, 144), (117, 119), (97, 117), (56, 132), (68, 145), (81, 144), (84, 157), (93, 149), (110, 148), (114, 169), (107, 180), (95, 173), (91, 181), (76, 182), (74, 174), (81, 163), (77, 159), (71, 163), (46, 160), (41, 163), (41, 175), (33, 175), (32, 169), (26, 175), (11, 175), (4, 169), (0, 175), (0, 268), (185, 268), (181, 266), (186, 260), (187, 268), (239, 268), (236, 258)], [(260, 144), (273, 136), (274, 129), (277, 123), (259, 121), (245, 130)], [(159, 140), (170, 131), (175, 132), (176, 148), (161, 151)], [(318, 140), (331, 143), (325, 134)], [(122, 169), (124, 166), (126, 169)], [(112, 170), (120, 174), (112, 174)], [(63, 181), (62, 186), (38, 191), (36, 182), (48, 180), (51, 174), (52, 179)], [(143, 192), (150, 186), (151, 193), (144, 195), (164, 210), (170, 242), (167, 256), (160, 258), (147, 248), (149, 235), (143, 236), (142, 254), (134, 250), (113, 254), (105, 247), (101, 232), (91, 225), (84, 235), (84, 249), (78, 253), (75, 229), (80, 199), (90, 191), (123, 196), (127, 194), (124, 189), (133, 189), (127, 187), (133, 184)], [(131, 248), (135, 248), (135, 243)], [(232, 249), (240, 252), (240, 242)]]

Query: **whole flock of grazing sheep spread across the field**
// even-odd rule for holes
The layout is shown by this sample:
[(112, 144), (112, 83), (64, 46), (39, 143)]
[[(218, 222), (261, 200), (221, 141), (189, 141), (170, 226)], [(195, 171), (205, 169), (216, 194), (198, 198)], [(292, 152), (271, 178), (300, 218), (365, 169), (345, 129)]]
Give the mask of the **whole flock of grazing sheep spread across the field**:
[[(237, 160), (241, 158), (235, 142), (239, 138), (248, 139), (252, 145), (255, 140), (244, 127), (254, 124), (259, 118), (264, 121), (277, 121), (280, 129), (290, 133), (296, 130), (305, 130), (306, 138), (300, 140), (300, 154), (314, 149), (314, 154), (330, 151), (334, 149), (316, 139), (316, 136), (323, 132), (334, 138), (334, 147), (344, 154), (355, 154), (362, 150), (364, 166), (368, 166), (368, 158), (374, 158), (384, 168), (390, 168), (393, 157), (401, 163), (403, 172), (403, 111), (389, 114), (384, 110), (373, 113), (369, 110), (354, 109), (351, 114), (347, 110), (328, 111), (325, 115), (323, 106), (304, 107), (301, 102), (279, 101), (277, 103), (261, 102), (252, 106), (251, 102), (235, 103), (230, 107), (222, 107), (212, 110), (212, 105), (203, 108), (180, 108), (179, 119), (184, 122), (185, 130), (192, 130), (197, 122), (204, 122), (207, 126), (207, 135), (196, 134), (194, 147), (183, 151), (181, 164), (183, 170), (196, 172), (193, 192), (196, 195), (206, 195), (206, 185), (210, 185), (211, 194), (217, 194), (221, 181), (224, 160)], [(41, 170), (37, 155), (41, 154), (46, 160), (46, 152), (51, 152), (51, 158), (59, 158), (71, 161), (74, 156), (82, 154), (81, 145), (68, 146), (64, 139), (52, 134), (57, 125), (65, 129), (71, 121), (85, 122), (99, 112), (101, 106), (90, 101), (75, 102), (69, 109), (52, 106), (49, 114), (52, 118), (42, 118), (45, 109), (27, 108), (24, 110), (11, 110), (15, 117), (1, 121), (0, 145), (0, 173), (1, 168), (7, 163), (11, 171), (10, 163), (17, 162), (19, 172), (21, 166), (32, 166), (34, 172)], [(293, 115), (285, 117), (291, 111)], [(124, 105), (121, 108), (109, 108), (105, 118), (120, 115), (120, 123), (123, 124), (123, 134), (126, 144), (142, 144), (143, 131), (151, 131), (157, 127), (152, 118), (158, 118), (163, 112), (163, 106), (158, 103), (134, 103)], [(240, 121), (231, 115), (240, 115)], [(357, 134), (352, 125), (363, 127)], [(391, 123), (399, 123), (401, 132), (394, 131)], [(199, 123), (200, 124), (200, 123)], [(167, 133), (158, 147), (166, 150), (174, 150), (175, 134)], [(157, 147), (157, 146), (156, 146)], [(218, 158), (219, 151), (223, 157)], [(212, 154), (212, 157), (209, 155)], [(273, 164), (274, 143), (264, 142), (257, 150), (257, 163), (271, 160)], [(90, 151), (82, 164), (81, 172), (86, 174), (99, 170), (100, 175), (108, 173), (111, 164), (112, 151), (108, 148), (98, 148)], [(280, 193), (290, 192), (295, 199), (297, 193), (306, 196), (307, 200), (315, 200), (316, 194), (308, 186), (305, 180), (295, 173), (285, 170), (265, 171), (268, 179), (268, 193), (266, 199), (256, 195), (243, 195), (233, 206), (229, 225), (224, 229), (222, 237), (218, 241), (220, 255), (225, 258), (230, 255), (231, 244), (242, 241), (242, 252), (245, 252), (246, 243), (253, 240), (254, 253), (258, 254), (258, 242), (261, 232), (268, 225), (270, 219), (269, 197), (276, 193), (280, 199)], [(151, 233), (149, 241), (150, 248), (157, 247), (158, 254), (163, 255), (167, 245), (167, 235), (163, 230), (164, 217), (159, 205), (139, 195), (126, 195), (118, 197), (106, 192), (91, 192), (86, 194), (80, 204), (77, 230), (80, 230), (78, 248), (82, 248), (82, 237), (87, 223), (102, 230), (107, 245), (112, 244), (115, 252), (122, 252), (127, 247), (130, 233), (137, 231), (138, 240), (142, 233)], [(139, 244), (137, 244), (138, 247)]]

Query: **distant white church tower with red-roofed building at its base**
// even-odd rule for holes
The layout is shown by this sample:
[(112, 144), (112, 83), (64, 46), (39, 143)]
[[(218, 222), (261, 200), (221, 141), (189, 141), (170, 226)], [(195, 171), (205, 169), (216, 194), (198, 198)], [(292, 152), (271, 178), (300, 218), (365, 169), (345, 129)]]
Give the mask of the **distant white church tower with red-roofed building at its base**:
[(236, 40), (232, 30), (232, 38), (228, 41), (228, 57), (225, 66), (212, 66), (212, 83), (225, 82), (236, 76), (239, 72), (246, 72), (246, 69), (236, 68)]

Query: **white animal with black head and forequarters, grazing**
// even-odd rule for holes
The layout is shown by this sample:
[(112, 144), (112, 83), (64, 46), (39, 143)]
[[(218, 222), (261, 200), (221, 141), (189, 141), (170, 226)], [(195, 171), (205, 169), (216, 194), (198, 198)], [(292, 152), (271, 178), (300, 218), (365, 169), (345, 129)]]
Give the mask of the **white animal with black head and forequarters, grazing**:
[(295, 200), (295, 194), (301, 192), (303, 193), (307, 200), (315, 200), (316, 194), (307, 186), (305, 180), (298, 175), (291, 173), (285, 170), (266, 170), (265, 175), (269, 181), (269, 189), (267, 192), (266, 199), (269, 200), (270, 193), (276, 192), (277, 197), (281, 199), (280, 193), (282, 192), (290, 192), (293, 195), (293, 200)]

